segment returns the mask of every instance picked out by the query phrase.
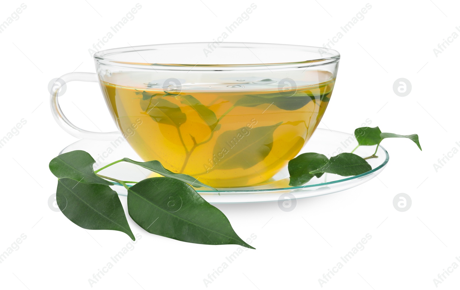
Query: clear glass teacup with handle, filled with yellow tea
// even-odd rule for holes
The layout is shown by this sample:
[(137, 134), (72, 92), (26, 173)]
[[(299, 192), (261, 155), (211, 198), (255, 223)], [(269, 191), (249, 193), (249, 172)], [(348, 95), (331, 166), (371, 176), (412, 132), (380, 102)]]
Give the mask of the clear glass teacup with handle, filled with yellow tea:
[[(327, 108), (339, 53), (264, 43), (177, 43), (94, 55), (98, 81), (124, 139), (144, 161), (159, 160), (214, 187), (264, 183), (310, 139)], [(54, 116), (80, 139), (117, 139), (73, 125), (52, 95)]]

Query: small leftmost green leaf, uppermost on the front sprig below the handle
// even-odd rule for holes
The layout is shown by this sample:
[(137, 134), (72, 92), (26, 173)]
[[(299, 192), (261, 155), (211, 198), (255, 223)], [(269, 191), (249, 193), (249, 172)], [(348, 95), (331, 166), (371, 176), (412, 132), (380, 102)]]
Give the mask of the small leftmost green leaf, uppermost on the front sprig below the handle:
[(94, 163), (96, 161), (88, 152), (75, 150), (54, 157), (49, 167), (57, 178), (70, 178), (81, 183), (113, 185), (112, 182), (94, 173), (92, 168)]

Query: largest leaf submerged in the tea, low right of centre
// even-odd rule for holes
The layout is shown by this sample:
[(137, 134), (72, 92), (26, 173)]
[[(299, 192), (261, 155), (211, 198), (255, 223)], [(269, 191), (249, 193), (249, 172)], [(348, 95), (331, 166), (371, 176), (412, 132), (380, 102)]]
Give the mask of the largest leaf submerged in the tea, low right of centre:
[(213, 150), (219, 157), (216, 169), (247, 169), (264, 160), (273, 146), (273, 132), (281, 124), (252, 129), (242, 127), (220, 134)]

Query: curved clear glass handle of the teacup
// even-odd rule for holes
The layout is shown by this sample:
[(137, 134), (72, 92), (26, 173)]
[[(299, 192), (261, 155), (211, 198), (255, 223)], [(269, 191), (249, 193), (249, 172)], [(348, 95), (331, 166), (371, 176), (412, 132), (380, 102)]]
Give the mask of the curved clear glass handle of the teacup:
[(51, 104), (51, 112), (57, 124), (61, 126), (61, 128), (63, 128), (65, 132), (69, 133), (70, 135), (78, 139), (114, 140), (120, 137), (121, 133), (119, 131), (103, 133), (103, 132), (92, 132), (92, 131), (83, 130), (81, 128), (78, 128), (74, 124), (72, 124), (66, 118), (66, 116), (64, 116), (61, 110), (61, 107), (59, 106), (58, 97), (59, 97), (59, 93), (62, 91), (62, 88), (69, 81), (98, 82), (99, 80), (98, 80), (98, 75), (95, 73), (74, 72), (74, 73), (62, 75), (60, 78), (58, 78), (54, 82), (55, 86), (52, 87), (52, 90), (50, 90), (50, 94), (51, 94), (50, 104)]

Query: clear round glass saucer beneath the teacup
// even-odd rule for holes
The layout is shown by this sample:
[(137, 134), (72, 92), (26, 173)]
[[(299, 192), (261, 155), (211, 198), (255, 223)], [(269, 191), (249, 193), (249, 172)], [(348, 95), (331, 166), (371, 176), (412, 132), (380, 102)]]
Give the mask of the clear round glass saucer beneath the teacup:
[[(342, 152), (351, 152), (356, 145), (357, 141), (352, 134), (317, 128), (299, 154), (316, 152), (332, 157)], [(95, 169), (123, 157), (142, 161), (121, 135), (120, 138), (113, 141), (81, 139), (65, 147), (60, 154), (73, 150), (84, 150), (90, 153), (96, 160)], [(354, 153), (361, 157), (367, 157), (372, 155), (374, 151), (375, 146), (360, 146)], [(312, 178), (303, 186), (292, 187), (288, 185), (289, 173), (288, 167), (286, 167), (263, 184), (218, 188), (218, 191), (210, 191), (202, 187), (197, 188), (196, 191), (209, 203), (256, 203), (279, 201), (286, 198), (316, 197), (344, 191), (374, 178), (382, 172), (389, 160), (388, 152), (382, 146), (379, 146), (376, 155), (379, 157), (367, 160), (372, 166), (372, 170), (357, 176), (344, 177), (326, 173), (321, 178)], [(130, 181), (140, 181), (147, 177), (157, 176), (145, 168), (127, 162), (110, 166), (101, 171), (101, 174)], [(121, 196), (127, 195), (126, 189), (118, 183), (114, 184), (113, 189)]]

